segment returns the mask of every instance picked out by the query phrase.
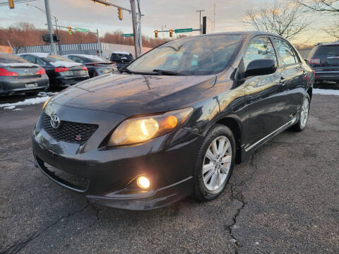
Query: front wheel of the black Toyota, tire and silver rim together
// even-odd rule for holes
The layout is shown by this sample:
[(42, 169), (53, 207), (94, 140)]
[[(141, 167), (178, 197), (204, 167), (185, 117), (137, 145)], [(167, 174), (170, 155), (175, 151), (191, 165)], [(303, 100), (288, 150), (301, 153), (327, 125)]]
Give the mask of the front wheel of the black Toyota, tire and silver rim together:
[(194, 168), (194, 195), (213, 200), (222, 193), (234, 167), (235, 140), (230, 128), (216, 124), (199, 148)]

